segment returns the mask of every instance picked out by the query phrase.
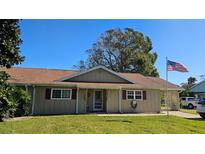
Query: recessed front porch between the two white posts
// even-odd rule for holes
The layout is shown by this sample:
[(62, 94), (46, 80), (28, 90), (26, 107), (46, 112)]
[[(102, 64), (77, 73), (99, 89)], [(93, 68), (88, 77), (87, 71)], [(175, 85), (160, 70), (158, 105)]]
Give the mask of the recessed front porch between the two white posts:
[(77, 88), (76, 113), (121, 112), (120, 89)]

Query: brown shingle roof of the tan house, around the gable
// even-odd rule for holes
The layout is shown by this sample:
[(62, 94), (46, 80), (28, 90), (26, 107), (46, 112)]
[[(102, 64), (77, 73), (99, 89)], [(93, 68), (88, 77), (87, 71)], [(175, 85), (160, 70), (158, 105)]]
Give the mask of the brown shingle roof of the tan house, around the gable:
[[(4, 69), (11, 77), (9, 82), (16, 84), (57, 84), (57, 85), (73, 85), (78, 87), (104, 87), (117, 89), (119, 87), (130, 88), (147, 88), (147, 89), (165, 89), (166, 81), (156, 77), (145, 77), (139, 73), (120, 73), (135, 84), (112, 84), (112, 83), (80, 83), (80, 82), (59, 82), (56, 81), (65, 76), (78, 73), (76, 70), (60, 70), (60, 69), (43, 69), (43, 68), (11, 68)], [(182, 90), (177, 85), (168, 83), (171, 90)]]

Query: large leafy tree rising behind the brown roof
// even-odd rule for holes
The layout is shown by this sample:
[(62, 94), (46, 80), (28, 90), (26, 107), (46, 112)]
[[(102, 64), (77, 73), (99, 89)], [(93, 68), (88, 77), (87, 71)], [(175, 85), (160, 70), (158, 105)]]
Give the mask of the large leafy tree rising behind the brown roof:
[(131, 28), (125, 28), (124, 31), (111, 29), (86, 51), (88, 59), (84, 63), (81, 61), (77, 68), (89, 69), (102, 65), (116, 72), (159, 76), (154, 66), (157, 53), (151, 51), (151, 39), (141, 32)]

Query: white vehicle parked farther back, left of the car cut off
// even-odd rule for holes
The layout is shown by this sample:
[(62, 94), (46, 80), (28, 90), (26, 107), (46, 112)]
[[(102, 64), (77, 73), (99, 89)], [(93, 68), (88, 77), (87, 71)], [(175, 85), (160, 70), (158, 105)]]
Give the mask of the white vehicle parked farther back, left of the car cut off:
[(186, 107), (188, 109), (194, 109), (197, 106), (198, 99), (194, 97), (181, 97), (181, 107)]

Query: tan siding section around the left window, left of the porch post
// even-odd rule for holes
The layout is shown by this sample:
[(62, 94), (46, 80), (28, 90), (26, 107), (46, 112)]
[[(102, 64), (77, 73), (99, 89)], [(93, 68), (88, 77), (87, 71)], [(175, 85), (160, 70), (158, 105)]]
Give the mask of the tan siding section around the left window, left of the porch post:
[(34, 114), (75, 113), (76, 100), (46, 100), (46, 88), (52, 87), (36, 87)]

